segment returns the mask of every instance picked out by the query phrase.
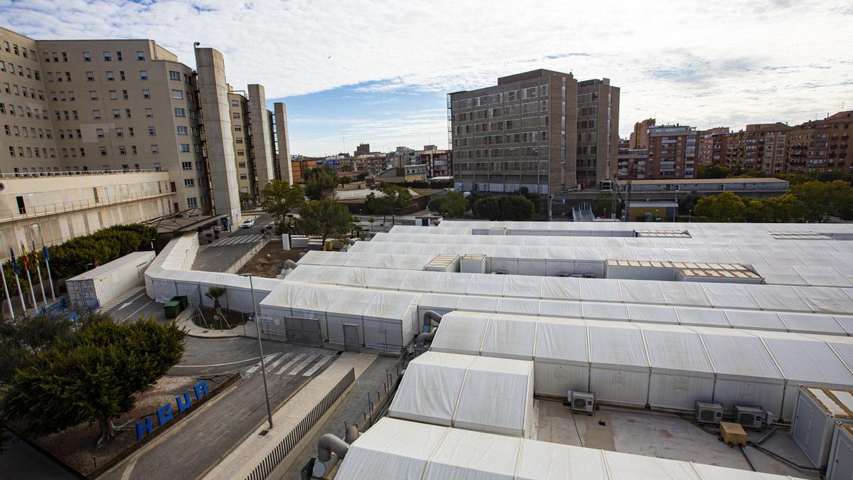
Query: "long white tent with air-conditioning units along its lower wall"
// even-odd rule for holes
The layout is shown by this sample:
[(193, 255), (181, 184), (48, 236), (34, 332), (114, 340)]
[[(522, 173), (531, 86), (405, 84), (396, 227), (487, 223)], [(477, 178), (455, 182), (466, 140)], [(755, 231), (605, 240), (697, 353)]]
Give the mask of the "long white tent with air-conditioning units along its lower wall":
[(444, 315), (432, 351), (533, 360), (537, 395), (692, 411), (759, 405), (790, 420), (799, 383), (853, 388), (853, 338), (600, 320)]

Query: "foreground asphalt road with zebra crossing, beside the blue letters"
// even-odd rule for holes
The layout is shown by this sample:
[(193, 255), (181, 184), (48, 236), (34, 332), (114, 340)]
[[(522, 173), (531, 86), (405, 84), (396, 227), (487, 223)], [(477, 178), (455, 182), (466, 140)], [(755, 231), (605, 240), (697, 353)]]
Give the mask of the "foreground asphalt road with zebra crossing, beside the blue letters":
[[(251, 339), (238, 339), (251, 342)], [(207, 342), (202, 341), (202, 342)], [(218, 343), (229, 341), (217, 340)], [(232, 356), (247, 354), (248, 344), (233, 342), (232, 345), (216, 346)], [(264, 350), (267, 359), (267, 383), (270, 388), (270, 405), (276, 410), (296, 389), (310, 381), (337, 360), (334, 350), (302, 347), (278, 343), (279, 348)], [(257, 348), (257, 340), (254, 341)], [(265, 344), (266, 346), (266, 344)], [(213, 372), (208, 369), (233, 368), (218, 361), (215, 365), (196, 363), (207, 361), (215, 355), (213, 351), (198, 355), (184, 355), (189, 372)], [(192, 360), (191, 362), (189, 360)], [(224, 358), (222, 360), (225, 360)], [(241, 368), (247, 376), (245, 381), (214, 398), (188, 419), (177, 424), (163, 436), (154, 440), (142, 452), (117, 465), (103, 477), (107, 479), (127, 478), (196, 478), (216, 465), (235, 448), (252, 430), (266, 421), (264, 383), (260, 375), (259, 361), (247, 362)], [(236, 364), (232, 364), (236, 365)], [(183, 370), (174, 367), (172, 371)], [(193, 370), (198, 369), (198, 370)], [(170, 372), (172, 373), (172, 372)], [(188, 374), (188, 372), (181, 372)]]

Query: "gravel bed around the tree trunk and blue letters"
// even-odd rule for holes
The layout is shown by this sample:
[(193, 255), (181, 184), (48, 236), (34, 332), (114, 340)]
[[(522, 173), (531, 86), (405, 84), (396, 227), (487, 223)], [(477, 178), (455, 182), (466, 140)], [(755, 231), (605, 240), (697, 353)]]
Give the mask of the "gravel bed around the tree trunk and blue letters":
[[(156, 416), (157, 408), (167, 403), (171, 403), (174, 409), (175, 397), (188, 389), (192, 389), (192, 386), (197, 382), (198, 380), (192, 377), (160, 378), (154, 387), (136, 396), (136, 407), (131, 412), (125, 413), (113, 423), (120, 425), (131, 420), (141, 419), (146, 415), (153, 414)], [(156, 420), (154, 423), (156, 424)], [(132, 421), (128, 426), (131, 427), (131, 430), (119, 431), (119, 435), (113, 442), (109, 442), (101, 448), (95, 448), (100, 436), (97, 423), (80, 424), (68, 430), (39, 438), (36, 443), (67, 465), (85, 474), (95, 470), (96, 465), (101, 465), (136, 441), (136, 422)]]

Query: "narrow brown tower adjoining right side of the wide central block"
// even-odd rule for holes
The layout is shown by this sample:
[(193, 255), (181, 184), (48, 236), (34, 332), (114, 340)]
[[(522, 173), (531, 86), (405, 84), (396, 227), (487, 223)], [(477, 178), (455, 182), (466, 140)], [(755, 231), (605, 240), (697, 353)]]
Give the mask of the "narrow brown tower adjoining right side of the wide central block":
[(619, 89), (610, 79), (577, 84), (577, 184), (597, 186), (615, 172), (618, 157)]

